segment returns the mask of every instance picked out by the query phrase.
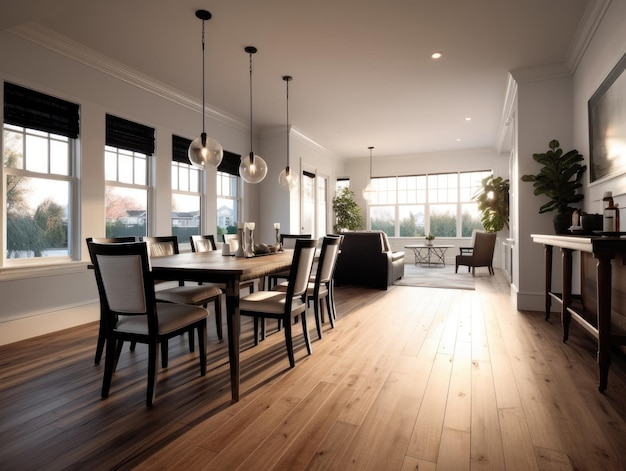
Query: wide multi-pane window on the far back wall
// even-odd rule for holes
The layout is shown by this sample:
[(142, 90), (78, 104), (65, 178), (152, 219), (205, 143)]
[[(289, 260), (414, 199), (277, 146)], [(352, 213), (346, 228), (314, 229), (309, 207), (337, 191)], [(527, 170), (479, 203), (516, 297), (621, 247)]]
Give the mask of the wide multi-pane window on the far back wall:
[(472, 197), (490, 171), (373, 178), (371, 229), (394, 237), (470, 237), (481, 229)]

